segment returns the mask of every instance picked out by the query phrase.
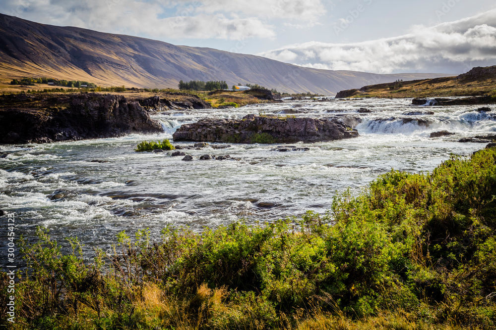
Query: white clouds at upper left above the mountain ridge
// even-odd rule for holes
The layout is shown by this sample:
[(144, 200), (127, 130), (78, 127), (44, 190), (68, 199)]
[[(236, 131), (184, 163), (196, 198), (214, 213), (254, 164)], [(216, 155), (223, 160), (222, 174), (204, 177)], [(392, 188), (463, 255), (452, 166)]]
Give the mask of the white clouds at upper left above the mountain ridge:
[(9, 0), (0, 11), (40, 23), (152, 38), (276, 36), (274, 20), (304, 27), (325, 14), (321, 0)]

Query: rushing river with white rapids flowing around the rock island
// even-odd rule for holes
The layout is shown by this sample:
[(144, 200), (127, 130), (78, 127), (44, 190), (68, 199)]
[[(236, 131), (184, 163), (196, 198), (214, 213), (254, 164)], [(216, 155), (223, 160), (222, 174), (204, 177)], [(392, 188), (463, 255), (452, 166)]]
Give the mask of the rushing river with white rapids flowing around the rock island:
[[(88, 248), (105, 247), (123, 230), (150, 228), (158, 235), (167, 224), (201, 229), (241, 218), (254, 223), (298, 216), (306, 210), (324, 212), (336, 191), (351, 188), (358, 193), (391, 168), (430, 171), (451, 153), (470, 155), (485, 146), (457, 140), (496, 130), (491, 112), (479, 113), (475, 106), (412, 107), (410, 103), (411, 99), (305, 100), (181, 110), (154, 115), (166, 130), (155, 136), (2, 145), (0, 150), (9, 155), (0, 159), (0, 208), (16, 213), (19, 234), (24, 236), (33, 237), (41, 225), (56, 238), (78, 236)], [(358, 113), (360, 108), (374, 112)], [(405, 115), (413, 111), (434, 111), (434, 115)], [(361, 120), (355, 120), (361, 136), (298, 143), (310, 151), (278, 152), (271, 151), (277, 145), (258, 144), (184, 150), (193, 155), (193, 162), (166, 153), (133, 151), (143, 140), (171, 139), (184, 123), (249, 113), (356, 117)], [(440, 130), (456, 135), (429, 138)], [(198, 160), (206, 153), (230, 154), (241, 161)]]

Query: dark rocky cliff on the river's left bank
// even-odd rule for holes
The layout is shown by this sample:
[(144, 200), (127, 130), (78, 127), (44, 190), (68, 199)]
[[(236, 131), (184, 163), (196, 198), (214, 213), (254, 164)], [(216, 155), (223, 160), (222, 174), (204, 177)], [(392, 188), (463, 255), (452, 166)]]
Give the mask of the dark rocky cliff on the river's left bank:
[(150, 119), (139, 102), (128, 101), (122, 95), (4, 95), (0, 103), (0, 143), (98, 139), (163, 132), (162, 125)]

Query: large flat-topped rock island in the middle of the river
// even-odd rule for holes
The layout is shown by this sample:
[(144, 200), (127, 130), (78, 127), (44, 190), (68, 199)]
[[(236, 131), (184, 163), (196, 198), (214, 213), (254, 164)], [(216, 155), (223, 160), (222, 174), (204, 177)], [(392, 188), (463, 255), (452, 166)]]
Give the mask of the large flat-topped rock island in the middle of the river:
[(182, 125), (174, 141), (234, 143), (293, 143), (332, 141), (358, 137), (342, 122), (314, 118), (278, 118), (248, 115), (242, 120), (203, 119)]

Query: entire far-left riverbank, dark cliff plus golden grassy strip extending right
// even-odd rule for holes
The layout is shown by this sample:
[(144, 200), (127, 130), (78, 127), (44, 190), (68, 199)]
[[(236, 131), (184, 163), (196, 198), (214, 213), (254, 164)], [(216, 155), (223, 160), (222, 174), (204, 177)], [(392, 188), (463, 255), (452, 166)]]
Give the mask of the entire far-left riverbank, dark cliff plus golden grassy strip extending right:
[(160, 124), (149, 116), (152, 112), (234, 108), (276, 100), (276, 95), (265, 90), (211, 95), (144, 90), (4, 94), (0, 95), (0, 143), (75, 141), (132, 133), (161, 133)]

